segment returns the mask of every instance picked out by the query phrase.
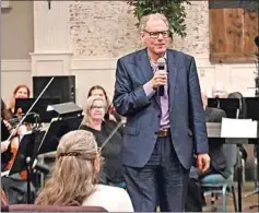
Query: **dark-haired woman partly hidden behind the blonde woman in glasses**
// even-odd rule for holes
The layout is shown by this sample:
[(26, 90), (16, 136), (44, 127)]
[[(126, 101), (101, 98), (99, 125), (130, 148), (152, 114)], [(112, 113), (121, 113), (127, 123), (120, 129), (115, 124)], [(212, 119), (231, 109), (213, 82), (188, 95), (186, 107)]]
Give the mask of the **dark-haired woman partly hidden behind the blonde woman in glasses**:
[(109, 98), (108, 98), (107, 93), (104, 90), (104, 87), (102, 87), (99, 85), (92, 86), (89, 91), (87, 97), (90, 97), (92, 95), (102, 96), (102, 97), (105, 98), (105, 100), (107, 103), (106, 114), (105, 114), (105, 119), (106, 120), (114, 120), (114, 121), (117, 121), (117, 122), (119, 122), (121, 120), (120, 115), (116, 113), (115, 107), (109, 102)]

